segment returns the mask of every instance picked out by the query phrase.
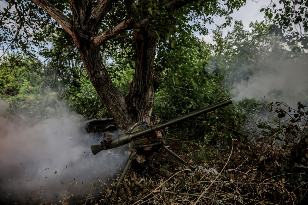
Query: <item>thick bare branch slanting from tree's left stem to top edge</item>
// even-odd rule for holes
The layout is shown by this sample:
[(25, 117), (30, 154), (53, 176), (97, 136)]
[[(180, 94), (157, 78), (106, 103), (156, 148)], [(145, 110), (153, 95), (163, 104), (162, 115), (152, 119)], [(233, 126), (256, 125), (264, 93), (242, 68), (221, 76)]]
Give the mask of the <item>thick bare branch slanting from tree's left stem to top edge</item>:
[(57, 9), (55, 6), (53, 6), (49, 1), (47, 0), (31, 0), (33, 3), (37, 4), (39, 7), (41, 7), (43, 10), (47, 12), (52, 18), (54, 18), (60, 26), (71, 36), (73, 36), (72, 32), (72, 24), (69, 21), (69, 19), (64, 16), (59, 9)]

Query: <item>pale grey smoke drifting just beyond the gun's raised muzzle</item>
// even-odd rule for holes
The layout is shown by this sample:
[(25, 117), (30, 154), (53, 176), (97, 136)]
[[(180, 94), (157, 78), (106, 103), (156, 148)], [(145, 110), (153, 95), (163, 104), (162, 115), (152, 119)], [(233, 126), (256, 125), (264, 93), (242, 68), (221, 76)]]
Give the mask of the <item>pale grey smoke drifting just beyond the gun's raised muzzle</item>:
[[(306, 101), (308, 90), (307, 58), (271, 58), (255, 66), (256, 71), (246, 80), (233, 85), (231, 94), (234, 101), (244, 99), (284, 101), (297, 103)], [(237, 76), (241, 78), (241, 76)]]

